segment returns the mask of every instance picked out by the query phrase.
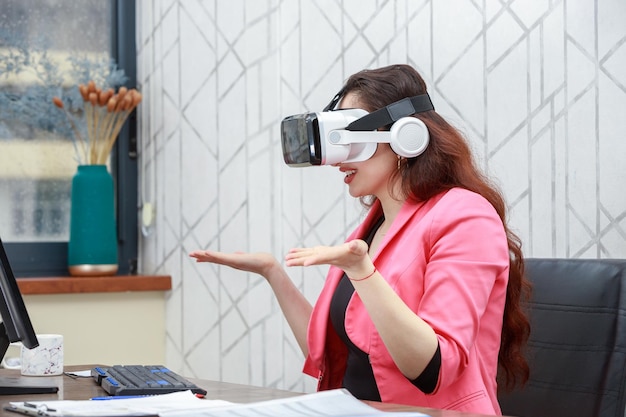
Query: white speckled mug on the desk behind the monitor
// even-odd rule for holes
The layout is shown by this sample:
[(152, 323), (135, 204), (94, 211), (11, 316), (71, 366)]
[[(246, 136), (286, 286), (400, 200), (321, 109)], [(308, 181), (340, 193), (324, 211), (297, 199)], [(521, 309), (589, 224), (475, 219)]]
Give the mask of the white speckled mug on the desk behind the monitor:
[(63, 335), (38, 334), (39, 346), (20, 351), (21, 371), (26, 376), (63, 374)]

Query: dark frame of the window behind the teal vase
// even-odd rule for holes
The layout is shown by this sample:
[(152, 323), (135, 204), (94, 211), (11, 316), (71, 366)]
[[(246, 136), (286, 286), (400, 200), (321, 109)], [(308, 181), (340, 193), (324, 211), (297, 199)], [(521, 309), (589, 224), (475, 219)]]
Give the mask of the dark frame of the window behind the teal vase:
[[(137, 86), (135, 0), (111, 1), (111, 57)], [(133, 111), (111, 153), (115, 184), (119, 275), (137, 273), (137, 116)], [(67, 242), (3, 242), (17, 277), (68, 276)]]

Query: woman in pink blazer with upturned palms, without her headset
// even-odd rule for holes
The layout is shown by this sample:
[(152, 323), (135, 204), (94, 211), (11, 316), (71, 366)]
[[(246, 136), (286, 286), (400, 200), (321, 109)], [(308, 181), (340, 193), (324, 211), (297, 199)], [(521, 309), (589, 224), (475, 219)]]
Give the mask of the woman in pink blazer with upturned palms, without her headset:
[[(421, 94), (420, 75), (392, 65), (351, 76), (339, 107), (373, 112)], [(403, 158), (379, 143), (370, 159), (337, 164), (350, 195), (369, 207), (346, 243), (287, 255), (287, 266), (331, 265), (315, 307), (269, 254), (191, 256), (267, 279), (319, 389), (501, 414), (498, 372), (507, 386), (528, 376), (520, 243), (459, 132), (434, 110), (413, 117), (430, 133), (421, 155)]]

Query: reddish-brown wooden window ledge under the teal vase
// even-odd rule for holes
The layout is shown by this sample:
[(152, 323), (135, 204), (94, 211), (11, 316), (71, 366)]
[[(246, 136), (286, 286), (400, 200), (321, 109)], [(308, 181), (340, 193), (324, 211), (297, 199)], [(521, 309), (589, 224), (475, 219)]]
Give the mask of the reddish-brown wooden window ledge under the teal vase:
[(113, 275), (108, 277), (18, 278), (17, 285), (23, 295), (168, 291), (172, 289), (172, 277), (169, 275)]

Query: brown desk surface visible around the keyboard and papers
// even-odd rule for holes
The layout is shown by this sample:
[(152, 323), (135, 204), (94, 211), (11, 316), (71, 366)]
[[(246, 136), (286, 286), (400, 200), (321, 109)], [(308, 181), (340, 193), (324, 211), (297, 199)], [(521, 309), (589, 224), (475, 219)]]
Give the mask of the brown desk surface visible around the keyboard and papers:
[[(96, 365), (66, 366), (65, 370), (82, 371), (91, 369), (94, 366)], [(24, 378), (27, 379), (29, 383), (32, 381), (33, 384), (37, 383), (37, 380), (45, 384), (56, 384), (59, 387), (59, 392), (57, 394), (0, 396), (0, 416), (16, 417), (19, 415), (4, 410), (4, 407), (11, 401), (87, 400), (92, 397), (106, 395), (104, 390), (96, 385), (91, 378), (71, 378), (66, 375), (53, 377), (21, 377), (19, 370), (0, 369), (0, 377), (7, 376)], [(189, 378), (189, 380), (206, 389), (208, 391), (207, 398), (235, 403), (251, 403), (302, 395), (302, 393), (298, 392), (232, 384), (228, 382), (207, 381), (194, 378)], [(432, 417), (486, 417), (480, 414), (460, 413), (457, 411), (433, 410), (429, 408), (382, 404), (370, 401), (367, 401), (367, 403), (384, 411), (420, 411)]]

